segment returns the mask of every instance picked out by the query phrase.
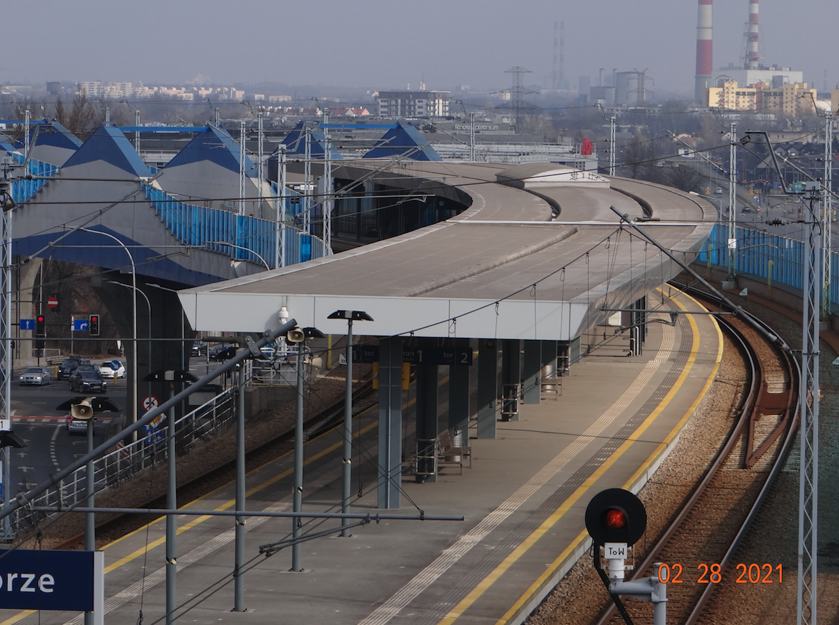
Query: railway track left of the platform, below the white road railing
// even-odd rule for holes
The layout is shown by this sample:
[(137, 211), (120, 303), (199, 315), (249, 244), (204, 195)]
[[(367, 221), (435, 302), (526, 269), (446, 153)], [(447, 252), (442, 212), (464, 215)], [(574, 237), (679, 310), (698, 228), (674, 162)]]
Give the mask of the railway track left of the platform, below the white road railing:
[[(353, 416), (363, 410), (375, 405), (378, 401), (376, 393), (373, 392), (373, 382), (367, 381), (353, 390), (352, 393), (352, 414)], [(307, 419), (304, 424), (304, 438), (308, 440), (330, 430), (336, 425), (342, 424), (344, 414), (344, 398), (339, 399), (335, 404), (320, 411), (320, 413)], [(286, 430), (271, 440), (266, 440), (261, 445), (254, 447), (246, 454), (246, 471), (262, 466), (268, 461), (290, 451), (294, 442), (294, 429)], [(236, 461), (222, 462), (208, 471), (195, 477), (189, 482), (178, 486), (178, 499), (180, 501), (191, 501), (195, 498), (206, 495), (217, 487), (231, 482), (236, 477)], [(141, 503), (134, 508), (165, 508), (166, 496), (152, 497), (149, 501)], [(96, 524), (97, 542), (111, 542), (122, 536), (143, 527), (159, 516), (144, 514), (122, 514), (109, 518), (106, 521)], [(85, 534), (76, 534), (55, 544), (53, 549), (77, 549), (84, 544)]]

